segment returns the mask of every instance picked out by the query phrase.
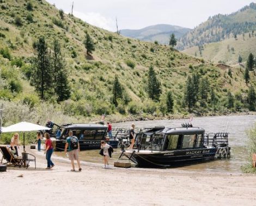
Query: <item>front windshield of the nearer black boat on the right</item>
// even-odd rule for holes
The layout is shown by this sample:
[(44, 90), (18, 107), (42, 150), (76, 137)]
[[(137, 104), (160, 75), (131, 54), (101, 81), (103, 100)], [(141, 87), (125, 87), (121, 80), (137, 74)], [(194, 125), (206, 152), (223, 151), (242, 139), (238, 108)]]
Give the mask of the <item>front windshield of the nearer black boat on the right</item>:
[(163, 144), (163, 134), (143, 134), (141, 138), (141, 150), (160, 151)]

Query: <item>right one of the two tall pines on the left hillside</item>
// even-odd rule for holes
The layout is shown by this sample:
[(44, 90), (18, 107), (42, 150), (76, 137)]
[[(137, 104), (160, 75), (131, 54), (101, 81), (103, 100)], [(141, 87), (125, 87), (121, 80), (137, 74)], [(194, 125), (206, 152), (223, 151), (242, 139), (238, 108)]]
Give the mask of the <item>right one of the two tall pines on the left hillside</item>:
[(60, 43), (53, 40), (52, 67), (54, 80), (54, 93), (57, 94), (57, 101), (64, 101), (70, 97), (70, 86), (68, 73), (66, 71), (66, 62), (63, 59)]

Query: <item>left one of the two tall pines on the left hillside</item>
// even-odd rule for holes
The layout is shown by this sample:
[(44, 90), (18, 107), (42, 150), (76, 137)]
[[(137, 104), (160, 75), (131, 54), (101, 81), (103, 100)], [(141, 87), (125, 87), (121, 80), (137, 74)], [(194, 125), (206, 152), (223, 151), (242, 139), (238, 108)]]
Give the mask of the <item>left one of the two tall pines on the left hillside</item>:
[(53, 94), (51, 56), (44, 37), (39, 37), (35, 51), (31, 83), (35, 86), (35, 91), (39, 92), (40, 98), (44, 100), (45, 94)]

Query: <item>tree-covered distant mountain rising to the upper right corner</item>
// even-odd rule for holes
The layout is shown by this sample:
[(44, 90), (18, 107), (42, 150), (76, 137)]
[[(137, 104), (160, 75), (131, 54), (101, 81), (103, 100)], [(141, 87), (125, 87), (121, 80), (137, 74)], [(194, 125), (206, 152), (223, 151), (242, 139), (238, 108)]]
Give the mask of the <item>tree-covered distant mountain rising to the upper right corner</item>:
[(205, 43), (219, 42), (255, 29), (256, 4), (251, 3), (232, 14), (209, 17), (206, 22), (182, 36), (176, 48), (184, 50), (193, 46), (202, 46)]

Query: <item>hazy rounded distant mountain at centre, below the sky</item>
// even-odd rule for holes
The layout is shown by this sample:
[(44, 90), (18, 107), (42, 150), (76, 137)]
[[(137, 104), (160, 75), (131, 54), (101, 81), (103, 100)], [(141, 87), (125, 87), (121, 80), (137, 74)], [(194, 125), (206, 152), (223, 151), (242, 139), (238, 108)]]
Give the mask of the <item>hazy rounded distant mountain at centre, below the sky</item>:
[(180, 38), (191, 29), (179, 27), (169, 24), (157, 24), (145, 27), (143, 29), (122, 29), (121, 35), (138, 38), (142, 41), (154, 42), (158, 41), (162, 44), (168, 44), (170, 34), (175, 34), (177, 38)]

